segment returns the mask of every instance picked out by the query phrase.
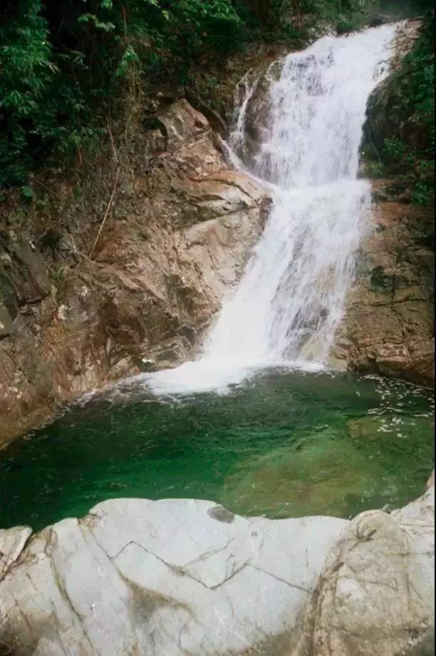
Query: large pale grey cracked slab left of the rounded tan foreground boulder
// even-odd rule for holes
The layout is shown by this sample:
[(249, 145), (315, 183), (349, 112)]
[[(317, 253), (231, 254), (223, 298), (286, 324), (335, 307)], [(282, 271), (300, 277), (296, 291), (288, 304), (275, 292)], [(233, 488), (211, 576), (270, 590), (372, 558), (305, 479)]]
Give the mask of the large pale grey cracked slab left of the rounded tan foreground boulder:
[(259, 649), (294, 629), (345, 525), (247, 520), (205, 501), (117, 500), (46, 528), (21, 554), (27, 529), (5, 531), (3, 643), (47, 656)]

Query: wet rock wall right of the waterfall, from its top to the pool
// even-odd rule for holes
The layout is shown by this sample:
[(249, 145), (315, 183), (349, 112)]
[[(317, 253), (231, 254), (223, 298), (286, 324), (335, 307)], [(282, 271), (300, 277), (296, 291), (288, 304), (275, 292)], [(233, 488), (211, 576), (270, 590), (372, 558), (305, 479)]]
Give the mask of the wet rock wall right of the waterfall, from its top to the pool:
[[(394, 69), (419, 28), (420, 21), (400, 24)], [(434, 385), (434, 211), (412, 206), (405, 165), (384, 148), (392, 138), (412, 147), (426, 143), (427, 127), (401, 115), (393, 76), (375, 88), (366, 114), (363, 151), (383, 163), (390, 179), (373, 181), (372, 231), (362, 244), (335, 355), (350, 368)]]

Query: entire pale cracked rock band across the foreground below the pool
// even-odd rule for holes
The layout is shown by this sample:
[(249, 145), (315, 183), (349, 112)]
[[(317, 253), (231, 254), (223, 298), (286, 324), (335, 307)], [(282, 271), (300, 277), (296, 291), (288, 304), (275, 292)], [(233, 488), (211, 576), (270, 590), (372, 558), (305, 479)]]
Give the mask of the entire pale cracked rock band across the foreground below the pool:
[(100, 503), (30, 537), (0, 532), (1, 644), (44, 656), (412, 655), (432, 629), (433, 533), (434, 488), (351, 522)]

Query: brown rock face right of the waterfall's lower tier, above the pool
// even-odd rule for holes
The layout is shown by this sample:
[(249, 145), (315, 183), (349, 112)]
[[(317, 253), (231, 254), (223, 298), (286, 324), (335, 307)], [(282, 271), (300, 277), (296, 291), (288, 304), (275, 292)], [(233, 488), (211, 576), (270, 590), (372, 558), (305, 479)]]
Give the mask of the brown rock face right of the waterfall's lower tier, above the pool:
[(392, 198), (392, 185), (373, 185), (372, 225), (332, 357), (351, 369), (434, 385), (432, 213)]

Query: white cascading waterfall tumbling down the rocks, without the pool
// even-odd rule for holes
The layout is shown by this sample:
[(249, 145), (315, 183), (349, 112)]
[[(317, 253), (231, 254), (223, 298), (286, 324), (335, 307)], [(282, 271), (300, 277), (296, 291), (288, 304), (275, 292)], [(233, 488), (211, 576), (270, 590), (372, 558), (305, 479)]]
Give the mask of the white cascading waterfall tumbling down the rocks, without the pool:
[[(274, 186), (271, 215), (202, 357), (147, 377), (155, 391), (225, 388), (264, 365), (326, 365), (370, 206), (369, 184), (357, 179), (366, 101), (388, 69), (394, 33), (387, 25), (326, 36), (279, 62), (268, 135), (251, 165)], [(255, 84), (243, 80), (230, 141), (242, 161)]]

